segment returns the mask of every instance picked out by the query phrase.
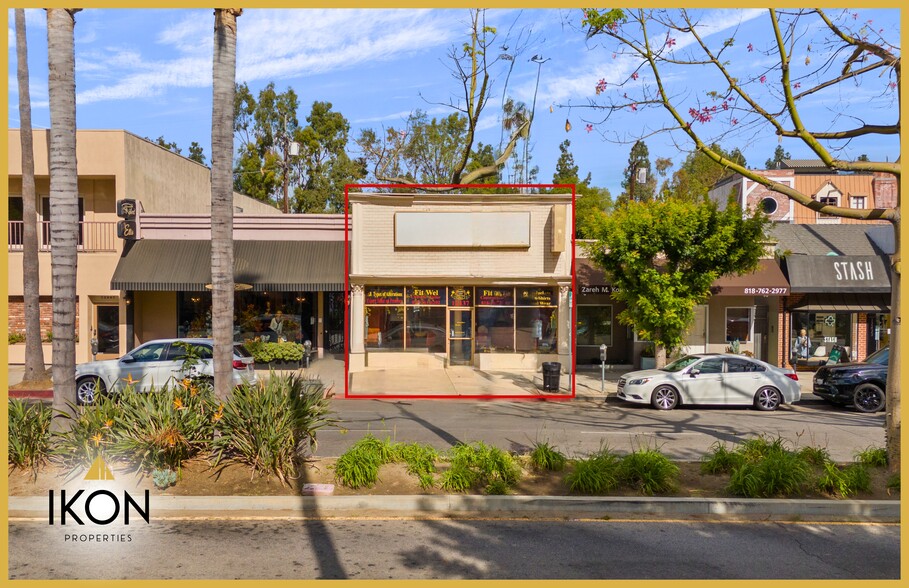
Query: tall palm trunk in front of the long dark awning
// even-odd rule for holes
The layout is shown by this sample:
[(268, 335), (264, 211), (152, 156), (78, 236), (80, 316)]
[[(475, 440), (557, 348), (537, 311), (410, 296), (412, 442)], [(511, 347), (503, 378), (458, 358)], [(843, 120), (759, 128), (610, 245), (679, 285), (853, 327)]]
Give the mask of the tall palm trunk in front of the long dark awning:
[(233, 125), (237, 74), (237, 17), (242, 8), (215, 10), (211, 117), (211, 281), (215, 394), (226, 400), (233, 382), (234, 242)]

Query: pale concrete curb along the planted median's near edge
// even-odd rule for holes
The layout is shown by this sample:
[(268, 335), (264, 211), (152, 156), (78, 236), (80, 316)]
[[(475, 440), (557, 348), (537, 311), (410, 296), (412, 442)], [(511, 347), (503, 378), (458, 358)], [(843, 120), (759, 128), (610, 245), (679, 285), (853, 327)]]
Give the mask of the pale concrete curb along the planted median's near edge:
[[(10, 517), (46, 517), (46, 496), (10, 496)], [(59, 509), (59, 505), (57, 505)], [(152, 513), (170, 516), (240, 516), (283, 512), (331, 516), (364, 511), (409, 514), (535, 514), (559, 517), (614, 514), (780, 517), (899, 521), (899, 500), (790, 500), (760, 498), (583, 496), (152, 496)], [(203, 515), (204, 513), (204, 515)], [(154, 515), (153, 515), (154, 516)], [(373, 515), (374, 516), (374, 515)]]

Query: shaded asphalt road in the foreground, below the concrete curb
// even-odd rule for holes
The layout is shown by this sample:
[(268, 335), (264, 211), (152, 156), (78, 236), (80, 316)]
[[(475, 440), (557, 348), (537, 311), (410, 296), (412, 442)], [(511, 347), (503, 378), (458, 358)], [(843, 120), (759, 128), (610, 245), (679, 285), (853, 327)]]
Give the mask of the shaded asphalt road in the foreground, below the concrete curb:
[(526, 520), (11, 522), (10, 579), (892, 578), (897, 525)]

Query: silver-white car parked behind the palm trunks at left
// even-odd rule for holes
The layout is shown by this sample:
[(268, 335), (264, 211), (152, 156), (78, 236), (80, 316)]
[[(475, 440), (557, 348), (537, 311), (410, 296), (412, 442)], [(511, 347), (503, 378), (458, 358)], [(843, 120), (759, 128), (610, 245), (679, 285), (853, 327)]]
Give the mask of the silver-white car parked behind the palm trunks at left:
[[(178, 341), (197, 348), (199, 363), (192, 373), (184, 367), (186, 350)], [(120, 359), (92, 361), (76, 366), (76, 402), (91, 404), (95, 394), (122, 390), (130, 383), (136, 390), (147, 392), (152, 387), (162, 387), (188, 376), (214, 378), (211, 339), (158, 339), (143, 343)], [(253, 368), (253, 357), (245, 347), (234, 344), (234, 385), (254, 384), (258, 381)]]

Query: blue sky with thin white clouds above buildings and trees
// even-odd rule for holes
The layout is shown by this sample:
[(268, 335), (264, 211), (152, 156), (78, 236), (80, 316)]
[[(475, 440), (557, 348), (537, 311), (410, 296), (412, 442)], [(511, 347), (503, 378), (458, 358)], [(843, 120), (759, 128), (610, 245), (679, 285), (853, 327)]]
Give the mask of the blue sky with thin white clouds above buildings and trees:
[[(737, 77), (753, 80), (756, 91), (763, 90), (757, 86), (759, 76), (773, 61), (766, 53), (771, 46), (767, 12), (704, 10), (698, 17), (708, 26), (708, 42), (735, 37), (737, 42), (727, 56), (739, 67)], [(27, 10), (26, 18), (32, 122), (35, 128), (47, 128), (45, 14)], [(467, 39), (468, 18), (465, 9), (246, 9), (238, 21), (237, 81), (247, 83), (254, 95), (272, 81), (278, 91), (292, 87), (300, 98), (301, 123), (313, 101), (331, 102), (333, 110), (350, 122), (349, 152), (357, 156), (352, 139), (361, 129), (401, 128), (416, 109), (438, 117), (452, 112), (446, 104), (457, 102), (460, 95), (448, 53)], [(514, 55), (508, 95), (528, 105), (535, 97), (530, 147), (531, 163), (539, 167), (538, 181), (552, 180), (559, 144), (569, 139), (581, 177), (590, 173), (593, 185), (608, 188), (615, 197), (622, 191), (630, 142), (645, 137), (651, 161), (666, 157), (676, 165), (693, 145), (679, 134), (653, 134), (666, 123), (665, 111), (632, 106), (634, 93), (648, 81), (647, 72), (639, 80), (632, 79), (636, 62), (616, 54), (614, 47), (599, 38), (586, 39), (581, 18), (578, 9), (486, 12), (487, 24), (497, 29), (495, 51)], [(12, 10), (7, 11), (7, 20), (7, 124), (18, 128)], [(872, 33), (884, 31), (880, 34), (898, 42), (897, 10), (850, 10), (846, 20), (856, 26), (867, 23)], [(77, 13), (77, 127), (125, 129), (152, 139), (163, 136), (176, 142), (184, 154), (191, 142), (198, 141), (208, 156), (212, 30), (209, 9), (87, 9)], [(812, 33), (817, 31), (800, 31), (800, 39)], [(651, 38), (667, 44), (670, 39), (665, 31), (653, 31)], [(692, 42), (673, 37), (670, 48), (683, 55)], [(825, 58), (824, 50), (822, 43), (812, 49), (815, 63)], [(542, 63), (531, 61), (534, 56)], [(498, 145), (500, 141), (501, 104), (510, 64), (499, 59), (493, 66), (491, 97), (480, 120), (479, 140), (484, 143)], [(705, 93), (722, 84), (706, 68), (687, 69), (667, 71), (664, 81), (686, 107), (709, 104)], [(606, 91), (598, 95), (600, 80)], [(820, 93), (819, 105), (802, 113), (806, 126), (826, 130), (856, 120), (896, 120), (896, 92), (869, 86)], [(624, 101), (627, 107), (606, 120), (603, 111), (589, 108), (591, 101), (623, 102), (620, 94), (626, 92), (632, 95)], [(724, 119), (727, 127), (731, 117)], [(566, 131), (566, 121), (570, 131)], [(718, 128), (720, 121), (714, 123)], [(779, 144), (766, 127), (747, 125), (744, 119), (732, 130), (723, 146), (741, 149), (751, 167), (762, 167)], [(785, 142), (783, 147), (794, 158), (814, 157), (800, 144)], [(848, 158), (867, 154), (873, 160), (893, 161), (899, 156), (898, 138), (876, 137), (841, 147), (840, 156)]]

